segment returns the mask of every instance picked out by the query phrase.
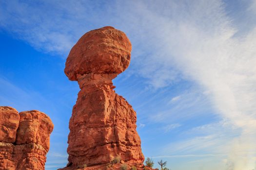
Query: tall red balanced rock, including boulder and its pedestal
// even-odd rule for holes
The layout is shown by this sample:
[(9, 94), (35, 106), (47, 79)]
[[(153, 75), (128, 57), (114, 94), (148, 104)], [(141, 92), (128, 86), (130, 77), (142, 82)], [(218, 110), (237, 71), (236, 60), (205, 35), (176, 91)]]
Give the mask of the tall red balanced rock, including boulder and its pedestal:
[(129, 66), (131, 50), (123, 32), (103, 27), (84, 34), (70, 51), (65, 74), (78, 81), (81, 90), (69, 122), (66, 169), (86, 164), (96, 170), (116, 156), (127, 164), (142, 165), (136, 112), (112, 84)]

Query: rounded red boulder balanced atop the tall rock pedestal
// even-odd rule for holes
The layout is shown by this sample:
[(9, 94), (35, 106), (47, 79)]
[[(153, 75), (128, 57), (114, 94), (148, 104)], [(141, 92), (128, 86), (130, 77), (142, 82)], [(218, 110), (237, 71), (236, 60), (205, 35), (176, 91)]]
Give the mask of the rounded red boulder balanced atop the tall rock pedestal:
[(131, 50), (127, 36), (113, 27), (90, 31), (71, 49), (65, 74), (72, 81), (88, 73), (119, 74), (130, 64)]

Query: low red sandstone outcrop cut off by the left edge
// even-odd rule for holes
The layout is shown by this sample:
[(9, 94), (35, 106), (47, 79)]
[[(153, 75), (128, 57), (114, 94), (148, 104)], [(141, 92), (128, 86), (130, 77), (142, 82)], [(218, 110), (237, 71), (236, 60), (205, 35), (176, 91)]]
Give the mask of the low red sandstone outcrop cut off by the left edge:
[(0, 106), (0, 170), (44, 170), (53, 131), (51, 119), (37, 110)]

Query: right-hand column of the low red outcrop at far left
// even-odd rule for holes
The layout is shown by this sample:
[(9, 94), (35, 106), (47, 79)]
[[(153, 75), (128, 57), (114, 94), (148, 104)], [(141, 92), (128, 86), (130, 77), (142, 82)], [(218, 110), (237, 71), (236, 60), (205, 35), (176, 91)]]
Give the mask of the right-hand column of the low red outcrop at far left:
[(38, 110), (20, 112), (14, 155), (17, 170), (44, 170), (53, 131), (51, 119)]

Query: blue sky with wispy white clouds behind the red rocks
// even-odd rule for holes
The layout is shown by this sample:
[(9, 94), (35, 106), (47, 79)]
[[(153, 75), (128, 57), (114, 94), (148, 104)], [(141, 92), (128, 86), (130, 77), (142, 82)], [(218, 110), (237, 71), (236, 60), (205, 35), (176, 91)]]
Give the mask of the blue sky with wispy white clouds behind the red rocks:
[(114, 85), (155, 167), (256, 169), (255, 16), (255, 0), (2, 0), (0, 105), (48, 114), (46, 170), (64, 167), (79, 92), (65, 59), (81, 35), (110, 25), (133, 45)]

